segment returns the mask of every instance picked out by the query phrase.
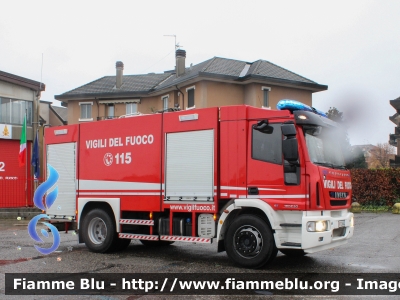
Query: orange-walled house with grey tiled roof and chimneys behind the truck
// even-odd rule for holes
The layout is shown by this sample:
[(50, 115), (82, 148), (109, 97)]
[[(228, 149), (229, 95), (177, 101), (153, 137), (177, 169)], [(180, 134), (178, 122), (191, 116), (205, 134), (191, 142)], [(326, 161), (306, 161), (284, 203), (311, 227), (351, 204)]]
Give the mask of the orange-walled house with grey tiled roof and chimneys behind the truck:
[(176, 51), (175, 70), (104, 76), (55, 99), (68, 105), (68, 124), (153, 113), (176, 108), (223, 105), (275, 108), (281, 99), (312, 105), (312, 94), (328, 89), (266, 60), (245, 62), (214, 57), (186, 66), (186, 51)]

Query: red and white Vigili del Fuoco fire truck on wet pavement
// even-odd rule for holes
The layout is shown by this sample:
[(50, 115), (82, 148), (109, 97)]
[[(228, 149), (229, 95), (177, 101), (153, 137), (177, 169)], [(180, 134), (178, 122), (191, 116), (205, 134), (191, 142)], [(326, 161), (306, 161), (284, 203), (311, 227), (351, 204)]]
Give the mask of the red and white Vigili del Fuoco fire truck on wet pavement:
[(47, 164), (59, 173), (47, 214), (73, 223), (93, 252), (132, 239), (216, 242), (258, 268), (278, 250), (329, 249), (354, 230), (336, 129), (313, 112), (250, 106), (47, 128)]

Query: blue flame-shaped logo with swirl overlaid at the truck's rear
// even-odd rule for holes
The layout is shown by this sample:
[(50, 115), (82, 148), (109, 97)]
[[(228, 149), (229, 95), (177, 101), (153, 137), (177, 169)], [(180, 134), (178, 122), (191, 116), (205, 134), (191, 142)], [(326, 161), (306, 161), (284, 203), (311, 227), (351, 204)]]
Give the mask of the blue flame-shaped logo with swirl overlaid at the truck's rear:
[[(43, 197), (46, 194), (46, 192), (50, 190), (57, 183), (59, 178), (58, 172), (51, 165), (48, 164), (47, 168), (49, 170), (49, 177), (36, 189), (35, 194), (33, 196), (33, 203), (35, 204), (35, 206), (44, 211), (48, 210), (53, 205), (58, 195), (58, 187), (56, 186), (50, 193), (46, 195), (45, 201), (43, 201)], [(28, 224), (29, 235), (31, 236), (32, 239), (34, 239), (38, 243), (45, 243), (36, 232), (36, 226), (39, 220), (43, 218), (50, 219), (48, 215), (40, 214), (32, 218), (32, 220)], [(40, 253), (50, 254), (55, 250), (57, 250), (58, 246), (60, 245), (60, 234), (58, 233), (58, 230), (55, 226), (47, 222), (43, 222), (43, 224), (49, 228), (51, 234), (53, 235), (53, 245), (50, 248), (42, 248), (37, 245), (34, 246), (36, 250), (39, 251)], [(49, 233), (47, 232), (47, 230), (41, 229), (40, 232), (44, 237), (46, 238), (49, 237)]]

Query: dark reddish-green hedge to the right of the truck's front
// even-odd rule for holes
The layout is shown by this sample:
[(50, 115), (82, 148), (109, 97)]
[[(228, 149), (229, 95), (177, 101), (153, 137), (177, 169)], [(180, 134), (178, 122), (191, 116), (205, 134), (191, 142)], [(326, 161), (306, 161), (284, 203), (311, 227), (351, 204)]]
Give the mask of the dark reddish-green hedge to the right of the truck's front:
[(393, 206), (400, 198), (400, 169), (352, 169), (353, 201)]

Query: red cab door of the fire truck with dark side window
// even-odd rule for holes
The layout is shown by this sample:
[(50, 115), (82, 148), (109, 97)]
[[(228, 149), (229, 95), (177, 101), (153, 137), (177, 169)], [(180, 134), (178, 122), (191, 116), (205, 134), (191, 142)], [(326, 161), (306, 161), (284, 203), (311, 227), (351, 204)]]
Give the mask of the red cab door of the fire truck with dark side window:
[[(249, 122), (247, 151), (248, 198), (263, 199), (274, 209), (304, 208), (299, 167), (285, 161), (282, 154), (282, 123)], [(299, 162), (300, 163), (300, 162)]]

